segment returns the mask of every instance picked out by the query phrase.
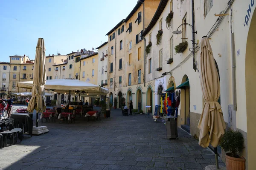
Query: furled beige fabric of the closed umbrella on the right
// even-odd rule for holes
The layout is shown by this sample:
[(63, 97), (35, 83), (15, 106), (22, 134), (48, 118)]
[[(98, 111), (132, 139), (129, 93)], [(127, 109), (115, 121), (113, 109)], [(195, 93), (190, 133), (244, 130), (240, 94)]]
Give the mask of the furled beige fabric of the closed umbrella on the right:
[(218, 103), (220, 81), (207, 37), (203, 37), (201, 41), (200, 68), (201, 88), (205, 102), (198, 123), (200, 129), (199, 144), (202, 147), (208, 147), (211, 143), (213, 147), (217, 147), (221, 135), (225, 133), (226, 124), (221, 105)]

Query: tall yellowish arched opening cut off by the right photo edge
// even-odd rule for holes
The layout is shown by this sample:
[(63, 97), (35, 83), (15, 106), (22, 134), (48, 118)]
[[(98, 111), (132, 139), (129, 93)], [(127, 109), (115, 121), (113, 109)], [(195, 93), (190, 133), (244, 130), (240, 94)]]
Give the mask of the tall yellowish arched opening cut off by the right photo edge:
[[(256, 12), (253, 13), (252, 20), (246, 43), (245, 55), (245, 94), (246, 94), (246, 113), (247, 113), (247, 162), (248, 170), (256, 167), (256, 90), (255, 90), (255, 74), (256, 74)], [(246, 127), (244, 127), (246, 128)]]

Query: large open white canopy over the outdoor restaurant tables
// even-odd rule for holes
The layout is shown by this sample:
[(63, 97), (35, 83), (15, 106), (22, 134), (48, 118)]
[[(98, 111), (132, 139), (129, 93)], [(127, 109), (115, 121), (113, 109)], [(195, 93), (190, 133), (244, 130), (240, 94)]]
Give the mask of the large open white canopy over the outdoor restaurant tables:
[[(32, 89), (33, 81), (17, 82), (17, 87)], [(46, 90), (52, 90), (60, 94), (84, 94), (85, 96), (98, 96), (108, 94), (107, 88), (102, 88), (99, 85), (94, 85), (88, 82), (83, 82), (77, 79), (51, 79), (47, 80), (44, 85)]]

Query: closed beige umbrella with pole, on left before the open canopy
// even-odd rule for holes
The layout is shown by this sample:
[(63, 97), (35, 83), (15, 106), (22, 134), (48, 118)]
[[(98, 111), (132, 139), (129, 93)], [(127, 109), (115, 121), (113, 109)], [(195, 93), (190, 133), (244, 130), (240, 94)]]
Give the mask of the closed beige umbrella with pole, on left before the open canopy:
[[(28, 111), (33, 112), (36, 110), (36, 119), (38, 119), (38, 113), (43, 112), (46, 109), (45, 104), (45, 89), (46, 82), (46, 58), (44, 39), (39, 38), (36, 46), (35, 62), (34, 62), (34, 78), (32, 88), (32, 98), (28, 105)], [(38, 127), (38, 121), (36, 121), (36, 127)]]

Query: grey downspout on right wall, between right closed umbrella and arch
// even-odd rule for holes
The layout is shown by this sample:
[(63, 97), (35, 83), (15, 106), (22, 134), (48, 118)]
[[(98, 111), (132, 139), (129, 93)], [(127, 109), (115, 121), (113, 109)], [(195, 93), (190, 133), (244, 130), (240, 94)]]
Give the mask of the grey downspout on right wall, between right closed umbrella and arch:
[(232, 92), (233, 92), (233, 108), (237, 111), (236, 99), (236, 52), (235, 52), (235, 34), (232, 31), (232, 8), (231, 1), (228, 2), (230, 6), (230, 33), (231, 33), (231, 62), (232, 62)]

